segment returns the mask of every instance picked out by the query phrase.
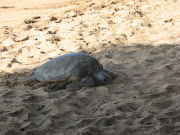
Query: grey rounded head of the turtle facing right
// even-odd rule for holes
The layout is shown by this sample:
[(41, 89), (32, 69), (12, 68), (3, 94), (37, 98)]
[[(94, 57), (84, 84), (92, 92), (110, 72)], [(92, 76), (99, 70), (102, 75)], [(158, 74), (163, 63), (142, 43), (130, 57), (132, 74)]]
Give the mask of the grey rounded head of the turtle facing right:
[(98, 85), (106, 85), (112, 81), (112, 77), (105, 73), (104, 71), (100, 71), (95, 75), (96, 82)]

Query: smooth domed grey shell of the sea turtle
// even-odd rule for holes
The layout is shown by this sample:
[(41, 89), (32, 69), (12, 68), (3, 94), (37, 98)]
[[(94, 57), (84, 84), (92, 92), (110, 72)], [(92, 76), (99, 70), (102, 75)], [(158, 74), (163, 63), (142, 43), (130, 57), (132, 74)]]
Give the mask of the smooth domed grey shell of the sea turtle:
[(90, 71), (96, 70), (97, 67), (98, 70), (102, 69), (102, 65), (92, 56), (84, 53), (71, 53), (54, 58), (38, 67), (35, 71), (35, 79), (40, 81), (66, 81), (76, 70), (83, 70), (88, 72), (85, 74), (91, 74)]

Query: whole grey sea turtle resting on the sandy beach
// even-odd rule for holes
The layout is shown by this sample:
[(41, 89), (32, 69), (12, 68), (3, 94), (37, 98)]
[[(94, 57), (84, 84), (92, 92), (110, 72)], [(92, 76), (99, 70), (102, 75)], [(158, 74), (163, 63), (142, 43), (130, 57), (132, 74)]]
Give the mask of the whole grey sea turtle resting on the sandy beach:
[(82, 88), (109, 84), (117, 73), (103, 69), (94, 57), (85, 53), (71, 53), (54, 58), (35, 70), (33, 79), (59, 81), (66, 88)]

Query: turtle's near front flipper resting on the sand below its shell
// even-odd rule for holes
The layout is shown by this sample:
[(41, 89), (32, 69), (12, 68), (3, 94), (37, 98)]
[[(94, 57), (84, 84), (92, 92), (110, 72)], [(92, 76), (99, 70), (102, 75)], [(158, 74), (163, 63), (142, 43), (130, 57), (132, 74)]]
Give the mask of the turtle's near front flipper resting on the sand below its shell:
[(81, 89), (83, 87), (95, 86), (95, 81), (92, 77), (87, 76), (81, 79), (80, 82), (72, 82), (66, 86), (66, 88)]

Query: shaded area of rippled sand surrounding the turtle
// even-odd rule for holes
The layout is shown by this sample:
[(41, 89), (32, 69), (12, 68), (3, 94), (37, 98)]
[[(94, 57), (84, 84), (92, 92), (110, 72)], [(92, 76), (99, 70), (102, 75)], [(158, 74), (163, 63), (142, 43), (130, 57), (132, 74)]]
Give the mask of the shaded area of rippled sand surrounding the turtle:
[(107, 86), (78, 91), (28, 80), (34, 70), (1, 72), (0, 134), (178, 135), (179, 50), (112, 45), (93, 56), (119, 76)]

